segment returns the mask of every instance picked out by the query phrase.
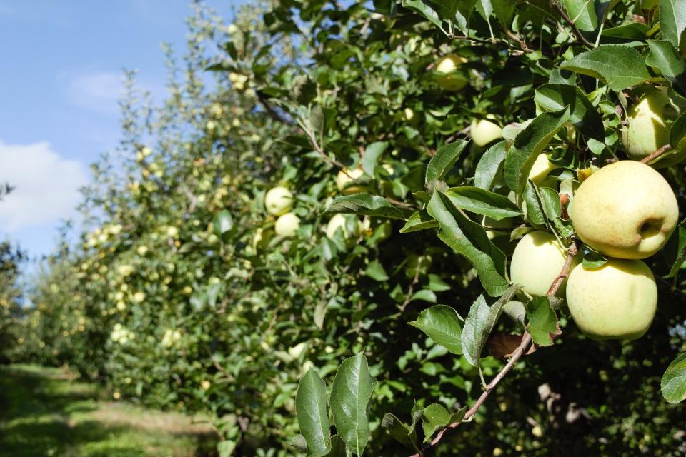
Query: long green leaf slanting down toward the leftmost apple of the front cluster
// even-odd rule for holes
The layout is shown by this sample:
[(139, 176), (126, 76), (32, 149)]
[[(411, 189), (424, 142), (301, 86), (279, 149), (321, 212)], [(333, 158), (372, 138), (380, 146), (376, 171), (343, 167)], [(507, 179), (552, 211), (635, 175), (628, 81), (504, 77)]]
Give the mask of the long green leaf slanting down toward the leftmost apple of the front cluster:
[(472, 263), (490, 296), (499, 296), (507, 290), (504, 276), (507, 258), (491, 243), (481, 224), (469, 220), (440, 191), (432, 195), (427, 211), (440, 224), (439, 238)]

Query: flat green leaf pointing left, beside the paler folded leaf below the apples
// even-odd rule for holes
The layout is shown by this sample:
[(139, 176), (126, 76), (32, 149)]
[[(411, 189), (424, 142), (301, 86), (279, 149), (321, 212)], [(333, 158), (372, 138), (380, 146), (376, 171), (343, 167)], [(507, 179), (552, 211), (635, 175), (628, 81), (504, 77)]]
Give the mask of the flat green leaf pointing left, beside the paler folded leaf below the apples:
[(450, 353), (462, 353), (462, 325), (457, 311), (450, 306), (436, 305), (425, 309), (409, 325), (419, 328)]

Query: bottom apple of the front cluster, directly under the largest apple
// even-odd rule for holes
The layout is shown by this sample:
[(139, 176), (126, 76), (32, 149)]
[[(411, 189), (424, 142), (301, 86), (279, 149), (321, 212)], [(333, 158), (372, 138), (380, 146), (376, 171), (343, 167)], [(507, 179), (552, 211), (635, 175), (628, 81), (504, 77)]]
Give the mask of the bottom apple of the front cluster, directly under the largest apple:
[(567, 305), (589, 338), (635, 340), (655, 317), (655, 278), (640, 260), (610, 258), (600, 268), (578, 265), (567, 281)]

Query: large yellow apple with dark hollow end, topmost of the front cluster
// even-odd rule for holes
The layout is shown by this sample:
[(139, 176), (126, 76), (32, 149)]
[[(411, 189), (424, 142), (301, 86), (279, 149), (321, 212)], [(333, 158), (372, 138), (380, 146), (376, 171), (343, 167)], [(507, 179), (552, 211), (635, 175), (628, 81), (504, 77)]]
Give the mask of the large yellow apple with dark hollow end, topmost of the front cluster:
[(646, 258), (665, 246), (677, 226), (679, 206), (657, 171), (625, 160), (582, 182), (570, 216), (590, 248), (615, 258)]

